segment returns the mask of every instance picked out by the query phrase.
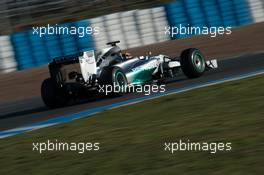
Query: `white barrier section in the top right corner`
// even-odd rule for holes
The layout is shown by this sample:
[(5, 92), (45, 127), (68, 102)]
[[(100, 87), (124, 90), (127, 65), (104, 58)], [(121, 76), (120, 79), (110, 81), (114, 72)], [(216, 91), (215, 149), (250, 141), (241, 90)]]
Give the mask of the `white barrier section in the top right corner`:
[(264, 21), (264, 0), (248, 0), (254, 23)]

